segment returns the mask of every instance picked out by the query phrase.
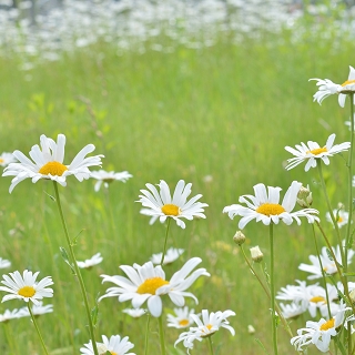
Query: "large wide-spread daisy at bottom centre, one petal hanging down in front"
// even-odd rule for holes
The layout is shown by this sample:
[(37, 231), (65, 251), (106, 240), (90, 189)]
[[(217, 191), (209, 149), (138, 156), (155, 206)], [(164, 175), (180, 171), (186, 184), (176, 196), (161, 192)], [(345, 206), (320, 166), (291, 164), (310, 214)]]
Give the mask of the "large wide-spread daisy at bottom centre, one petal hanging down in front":
[(210, 276), (205, 268), (197, 268), (192, 271), (202, 260), (200, 257), (192, 257), (189, 260), (180, 271), (173, 274), (170, 281), (165, 280), (165, 273), (160, 265), (154, 266), (152, 262), (144, 265), (134, 264), (133, 267), (129, 265), (121, 265), (120, 268), (128, 275), (128, 277), (115, 275), (101, 275), (102, 282), (112, 282), (119, 287), (110, 287), (106, 294), (101, 296), (99, 301), (104, 297), (118, 297), (120, 302), (132, 300), (134, 308), (148, 301), (148, 310), (154, 317), (162, 314), (161, 296), (168, 294), (170, 300), (179, 307), (185, 304), (184, 297), (192, 297), (196, 303), (197, 298), (190, 292), (185, 292), (193, 282), (204, 275)]

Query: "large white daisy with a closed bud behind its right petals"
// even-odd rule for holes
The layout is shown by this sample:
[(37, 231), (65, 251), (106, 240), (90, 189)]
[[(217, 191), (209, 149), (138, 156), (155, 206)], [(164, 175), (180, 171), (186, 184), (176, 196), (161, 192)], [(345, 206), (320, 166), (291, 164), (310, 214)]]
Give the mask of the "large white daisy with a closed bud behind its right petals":
[(270, 223), (278, 224), (280, 221), (290, 225), (293, 220), (300, 225), (300, 217), (306, 217), (310, 223), (320, 221), (320, 219), (314, 215), (317, 214), (318, 211), (314, 209), (303, 209), (292, 212), (296, 205), (301, 186), (301, 182), (293, 181), (286, 191), (282, 204), (280, 204), (281, 187), (267, 186), (266, 191), (264, 184), (257, 184), (254, 186), (255, 196), (242, 195), (239, 200), (239, 202), (245, 203), (246, 207), (240, 204), (232, 204), (225, 206), (223, 213), (227, 213), (231, 220), (233, 220), (235, 215), (242, 216), (239, 223), (241, 230), (252, 220), (256, 220), (256, 222), (262, 221), (265, 225), (270, 225)]

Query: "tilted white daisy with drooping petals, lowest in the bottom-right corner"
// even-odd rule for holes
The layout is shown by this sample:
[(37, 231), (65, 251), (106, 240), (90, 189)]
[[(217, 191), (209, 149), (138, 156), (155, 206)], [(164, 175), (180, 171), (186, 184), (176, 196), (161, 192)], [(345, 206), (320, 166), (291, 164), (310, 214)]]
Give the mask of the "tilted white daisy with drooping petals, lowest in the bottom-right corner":
[(297, 331), (297, 336), (294, 336), (291, 339), (291, 344), (301, 352), (304, 351), (304, 346), (314, 344), (322, 353), (327, 353), (329, 351), (332, 336), (336, 336), (337, 329), (343, 324), (344, 314), (347, 310), (351, 308), (347, 308), (342, 303), (339, 311), (329, 321), (324, 318), (318, 322), (308, 321), (305, 328)]

